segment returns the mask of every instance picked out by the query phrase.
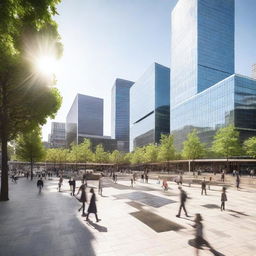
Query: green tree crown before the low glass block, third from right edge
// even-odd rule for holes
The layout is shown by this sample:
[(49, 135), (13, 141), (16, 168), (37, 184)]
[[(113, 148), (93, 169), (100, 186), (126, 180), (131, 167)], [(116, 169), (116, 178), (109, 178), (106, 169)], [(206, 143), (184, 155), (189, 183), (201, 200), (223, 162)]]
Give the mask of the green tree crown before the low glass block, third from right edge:
[(187, 135), (187, 140), (183, 142), (182, 156), (185, 159), (197, 159), (205, 155), (205, 147), (201, 143), (197, 131), (193, 130)]

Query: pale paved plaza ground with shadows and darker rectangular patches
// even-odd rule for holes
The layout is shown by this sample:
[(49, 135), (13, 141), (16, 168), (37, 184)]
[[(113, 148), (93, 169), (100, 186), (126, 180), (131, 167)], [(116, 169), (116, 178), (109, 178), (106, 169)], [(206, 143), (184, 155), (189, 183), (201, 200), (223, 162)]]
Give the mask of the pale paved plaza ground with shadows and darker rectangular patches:
[(256, 255), (256, 189), (229, 187), (227, 209), (221, 212), (220, 186), (212, 186), (207, 196), (201, 196), (198, 185), (184, 186), (192, 217), (176, 218), (177, 185), (170, 183), (163, 192), (156, 181), (149, 182), (131, 188), (125, 179), (118, 184), (105, 180), (103, 197), (97, 196), (99, 223), (94, 216), (90, 222), (80, 216), (80, 203), (70, 195), (67, 181), (62, 192), (57, 179), (46, 181), (40, 195), (35, 181), (11, 183), (11, 200), (0, 202), (0, 256), (194, 255), (188, 242), (195, 213), (202, 214), (205, 238), (214, 248), (200, 255)]

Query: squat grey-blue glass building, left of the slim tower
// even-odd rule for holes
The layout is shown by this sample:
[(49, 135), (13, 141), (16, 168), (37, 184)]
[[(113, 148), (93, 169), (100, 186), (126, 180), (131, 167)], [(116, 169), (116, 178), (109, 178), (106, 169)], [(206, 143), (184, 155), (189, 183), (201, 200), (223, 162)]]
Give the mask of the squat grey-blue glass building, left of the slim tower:
[(83, 135), (103, 136), (103, 99), (77, 94), (66, 118), (67, 145)]

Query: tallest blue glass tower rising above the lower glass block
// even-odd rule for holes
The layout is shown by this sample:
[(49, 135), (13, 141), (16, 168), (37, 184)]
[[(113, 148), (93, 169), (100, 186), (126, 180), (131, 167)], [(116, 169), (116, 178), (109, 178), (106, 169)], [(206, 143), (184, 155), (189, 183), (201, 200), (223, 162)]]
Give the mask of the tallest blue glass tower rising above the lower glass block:
[(172, 12), (172, 107), (232, 74), (234, 0), (179, 0)]

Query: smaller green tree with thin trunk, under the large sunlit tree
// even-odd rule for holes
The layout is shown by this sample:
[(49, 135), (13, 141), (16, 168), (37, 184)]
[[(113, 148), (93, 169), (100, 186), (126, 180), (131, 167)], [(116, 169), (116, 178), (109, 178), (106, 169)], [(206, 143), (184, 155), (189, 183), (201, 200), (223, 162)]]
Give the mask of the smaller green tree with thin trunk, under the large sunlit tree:
[(31, 180), (33, 179), (34, 163), (43, 160), (45, 153), (39, 127), (31, 132), (23, 133), (17, 138), (16, 155), (19, 160), (30, 162)]

